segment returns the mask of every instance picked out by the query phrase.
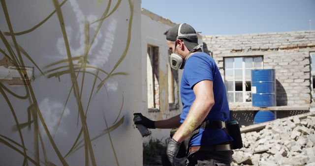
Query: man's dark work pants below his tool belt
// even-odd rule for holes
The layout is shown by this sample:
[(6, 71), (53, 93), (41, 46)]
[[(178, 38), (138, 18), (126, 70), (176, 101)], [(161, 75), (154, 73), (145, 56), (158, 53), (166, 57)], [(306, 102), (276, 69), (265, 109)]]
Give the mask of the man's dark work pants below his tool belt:
[[(233, 151), (197, 151), (188, 155), (186, 166), (230, 166)], [(162, 165), (171, 166), (165, 151), (161, 154)]]

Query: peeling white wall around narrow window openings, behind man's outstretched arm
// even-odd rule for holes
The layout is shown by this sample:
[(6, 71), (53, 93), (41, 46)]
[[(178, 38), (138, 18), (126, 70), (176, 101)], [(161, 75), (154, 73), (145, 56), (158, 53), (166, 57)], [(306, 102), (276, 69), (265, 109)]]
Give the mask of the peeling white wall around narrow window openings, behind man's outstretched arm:
[[(154, 15), (154, 14), (153, 14)], [(166, 36), (163, 34), (171, 26), (163, 24), (150, 18), (148, 15), (141, 15), (141, 63), (142, 63), (142, 77), (145, 78), (145, 82), (142, 83), (142, 107), (148, 107), (147, 99), (147, 46), (153, 45), (158, 46), (159, 52), (159, 99), (160, 99), (160, 109), (158, 112), (148, 112), (147, 110), (142, 111), (142, 114), (149, 117), (153, 120), (162, 120), (170, 118), (174, 115), (180, 113), (180, 111), (169, 111), (168, 108), (168, 66), (169, 66), (169, 57), (168, 57), (168, 46), (166, 43)], [(181, 71), (179, 72), (181, 76)], [(180, 81), (181, 77), (179, 77)], [(181, 103), (179, 102), (179, 105)], [(180, 109), (181, 110), (181, 109)], [(151, 129), (152, 134), (148, 138), (144, 138), (144, 142), (148, 142), (150, 138), (165, 139), (169, 137), (168, 129)]]

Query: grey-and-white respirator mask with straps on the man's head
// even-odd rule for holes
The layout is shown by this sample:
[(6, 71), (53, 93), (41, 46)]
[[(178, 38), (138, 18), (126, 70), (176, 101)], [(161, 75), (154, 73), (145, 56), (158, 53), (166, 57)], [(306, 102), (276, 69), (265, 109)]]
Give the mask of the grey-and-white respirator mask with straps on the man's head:
[[(179, 37), (182, 37), (182, 36), (196, 36), (197, 33), (187, 33), (187, 34), (183, 34), (181, 33), (181, 27), (182, 27), (183, 24), (181, 24), (179, 27), (178, 27), (178, 31), (177, 31), (177, 37), (176, 37), (176, 40), (179, 39)], [(184, 66), (185, 66), (185, 58), (179, 54), (176, 54), (176, 40), (175, 40), (175, 49), (174, 49), (174, 53), (172, 53), (170, 55), (170, 65), (171, 65), (171, 68), (175, 69), (175, 70), (178, 70), (178, 69), (183, 69)], [(184, 42), (185, 43), (185, 42)], [(202, 47), (202, 44), (199, 44), (198, 46), (194, 47), (193, 49), (191, 49), (188, 53), (188, 55), (192, 52), (192, 51), (195, 51), (195, 50), (198, 50)], [(187, 57), (187, 56), (186, 56)]]

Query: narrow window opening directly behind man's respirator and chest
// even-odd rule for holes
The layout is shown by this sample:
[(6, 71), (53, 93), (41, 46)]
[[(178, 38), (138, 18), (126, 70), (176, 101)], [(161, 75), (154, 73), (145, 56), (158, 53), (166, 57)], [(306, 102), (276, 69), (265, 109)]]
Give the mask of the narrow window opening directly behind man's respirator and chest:
[[(172, 51), (168, 50), (168, 55)], [(169, 63), (169, 60), (168, 60)], [(178, 70), (171, 68), (168, 64), (168, 104), (169, 110), (178, 110)]]

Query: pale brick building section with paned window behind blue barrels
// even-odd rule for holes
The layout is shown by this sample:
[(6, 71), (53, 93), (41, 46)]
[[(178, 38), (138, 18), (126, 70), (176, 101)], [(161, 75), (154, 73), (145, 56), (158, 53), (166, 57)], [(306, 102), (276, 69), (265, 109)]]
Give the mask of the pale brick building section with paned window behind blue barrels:
[[(314, 105), (315, 31), (206, 35), (203, 41), (220, 68), (231, 111), (242, 111), (252, 121), (257, 110), (276, 111), (281, 118), (307, 112)], [(252, 107), (253, 69), (275, 70), (275, 107)]]

